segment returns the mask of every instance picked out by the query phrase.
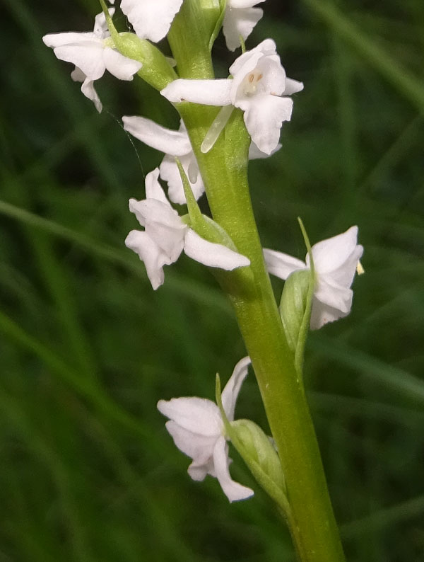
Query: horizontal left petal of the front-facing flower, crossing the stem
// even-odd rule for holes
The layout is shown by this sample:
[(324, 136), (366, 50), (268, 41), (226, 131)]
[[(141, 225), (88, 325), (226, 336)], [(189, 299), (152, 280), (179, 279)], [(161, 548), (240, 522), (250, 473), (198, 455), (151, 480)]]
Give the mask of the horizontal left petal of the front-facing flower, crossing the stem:
[(232, 80), (186, 80), (177, 79), (160, 93), (172, 103), (191, 101), (204, 105), (230, 105)]

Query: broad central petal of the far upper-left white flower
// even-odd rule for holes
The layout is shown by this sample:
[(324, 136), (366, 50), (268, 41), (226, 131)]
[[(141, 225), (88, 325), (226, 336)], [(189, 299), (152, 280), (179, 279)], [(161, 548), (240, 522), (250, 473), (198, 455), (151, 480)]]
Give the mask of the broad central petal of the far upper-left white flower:
[(105, 74), (102, 40), (61, 45), (55, 47), (54, 55), (58, 59), (75, 64), (90, 80), (98, 80)]

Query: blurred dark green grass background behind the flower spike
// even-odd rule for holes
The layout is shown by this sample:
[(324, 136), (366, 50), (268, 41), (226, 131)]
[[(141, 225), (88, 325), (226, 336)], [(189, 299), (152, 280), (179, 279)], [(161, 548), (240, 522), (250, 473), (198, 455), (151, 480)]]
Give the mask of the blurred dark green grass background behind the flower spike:
[[(264, 494), (191, 481), (155, 408), (213, 398), (245, 352), (206, 268), (182, 258), (154, 293), (123, 245), (160, 155), (119, 118), (177, 116), (110, 76), (98, 115), (42, 44), (90, 29), (95, 0), (1, 4), (0, 561), (293, 560)], [(424, 5), (263, 6), (247, 46), (275, 38), (305, 82), (283, 149), (251, 166), (264, 245), (302, 257), (300, 215), (312, 241), (358, 224), (365, 246), (353, 312), (312, 333), (306, 366), (348, 559), (423, 561)], [(237, 415), (265, 424), (253, 376)]]

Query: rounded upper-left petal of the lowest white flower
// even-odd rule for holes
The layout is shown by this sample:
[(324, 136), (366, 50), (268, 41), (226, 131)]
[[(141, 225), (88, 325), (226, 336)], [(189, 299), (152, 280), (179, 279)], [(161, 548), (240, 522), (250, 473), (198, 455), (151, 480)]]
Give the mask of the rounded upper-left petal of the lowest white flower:
[(216, 403), (197, 396), (158, 401), (158, 410), (183, 429), (205, 437), (218, 437), (223, 420)]

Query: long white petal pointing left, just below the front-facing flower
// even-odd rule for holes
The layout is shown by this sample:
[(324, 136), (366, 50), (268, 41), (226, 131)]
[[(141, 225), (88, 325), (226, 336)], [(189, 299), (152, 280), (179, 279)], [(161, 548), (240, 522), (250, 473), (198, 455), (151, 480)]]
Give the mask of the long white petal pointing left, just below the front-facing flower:
[(184, 154), (192, 151), (192, 145), (185, 130), (167, 129), (151, 119), (137, 117), (136, 115), (124, 115), (122, 121), (126, 131), (148, 144), (149, 147), (165, 152), (165, 154), (184, 156)]

